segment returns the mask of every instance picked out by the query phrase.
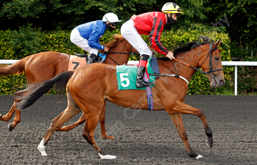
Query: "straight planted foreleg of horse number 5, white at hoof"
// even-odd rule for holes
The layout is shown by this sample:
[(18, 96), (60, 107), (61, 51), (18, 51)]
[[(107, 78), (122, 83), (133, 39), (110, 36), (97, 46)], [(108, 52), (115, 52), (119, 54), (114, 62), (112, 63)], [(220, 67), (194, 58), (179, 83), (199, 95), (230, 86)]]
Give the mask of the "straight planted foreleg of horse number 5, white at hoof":
[(169, 114), (169, 115), (170, 115), (176, 129), (177, 129), (179, 137), (182, 139), (182, 141), (183, 141), (183, 143), (184, 143), (184, 145), (187, 149), (188, 155), (190, 157), (195, 157), (196, 159), (202, 158), (203, 156), (196, 154), (192, 150), (191, 146), (189, 145), (181, 114), (174, 113), (174, 114)]

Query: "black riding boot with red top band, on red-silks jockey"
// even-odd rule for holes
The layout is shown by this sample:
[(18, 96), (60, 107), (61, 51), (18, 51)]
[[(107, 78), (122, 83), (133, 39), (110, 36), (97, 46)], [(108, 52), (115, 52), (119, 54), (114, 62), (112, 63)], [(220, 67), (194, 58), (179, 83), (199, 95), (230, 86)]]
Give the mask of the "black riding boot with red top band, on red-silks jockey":
[(154, 82), (148, 83), (148, 82), (143, 80), (148, 58), (149, 58), (149, 56), (146, 55), (146, 54), (141, 55), (139, 65), (138, 65), (138, 68), (137, 68), (137, 77), (136, 77), (136, 87), (137, 88), (140, 88), (140, 87), (143, 87), (143, 86), (150, 86), (150, 85), (154, 84)]

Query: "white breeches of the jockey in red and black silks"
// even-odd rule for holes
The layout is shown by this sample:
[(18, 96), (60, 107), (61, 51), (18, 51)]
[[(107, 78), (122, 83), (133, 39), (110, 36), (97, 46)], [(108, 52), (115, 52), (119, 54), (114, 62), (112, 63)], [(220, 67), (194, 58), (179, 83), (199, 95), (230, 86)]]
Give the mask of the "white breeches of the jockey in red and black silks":
[(151, 50), (134, 27), (132, 19), (129, 19), (121, 26), (121, 35), (140, 53), (140, 55), (147, 54), (150, 57), (152, 56)]

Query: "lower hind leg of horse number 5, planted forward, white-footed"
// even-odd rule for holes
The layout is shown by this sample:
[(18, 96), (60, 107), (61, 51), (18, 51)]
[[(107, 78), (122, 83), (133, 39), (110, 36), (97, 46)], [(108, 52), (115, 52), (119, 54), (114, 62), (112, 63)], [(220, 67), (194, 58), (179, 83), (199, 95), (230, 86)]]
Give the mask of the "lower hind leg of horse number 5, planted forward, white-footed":
[(94, 140), (94, 132), (98, 124), (99, 116), (100, 116), (100, 113), (87, 114), (87, 119), (83, 130), (83, 137), (88, 141), (90, 146), (94, 149), (95, 152), (98, 153), (98, 155), (102, 159), (116, 159), (117, 158), (116, 156), (107, 155), (102, 151), (101, 147), (103, 147), (104, 145), (101, 145), (101, 144), (105, 144), (104, 142), (101, 141), (102, 139), (98, 140), (97, 143)]

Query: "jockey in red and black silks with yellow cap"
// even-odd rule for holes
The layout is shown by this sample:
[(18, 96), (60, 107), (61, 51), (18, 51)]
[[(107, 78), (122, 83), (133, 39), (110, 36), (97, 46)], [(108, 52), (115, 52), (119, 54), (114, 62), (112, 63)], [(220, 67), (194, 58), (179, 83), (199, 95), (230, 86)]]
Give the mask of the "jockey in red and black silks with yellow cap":
[(146, 69), (147, 59), (151, 57), (152, 52), (140, 34), (149, 35), (151, 46), (160, 54), (165, 54), (172, 59), (173, 53), (169, 52), (160, 42), (163, 26), (172, 24), (177, 20), (181, 9), (173, 2), (166, 3), (162, 7), (162, 12), (147, 12), (138, 16), (134, 15), (130, 20), (121, 26), (121, 35), (141, 54), (137, 68), (136, 87), (153, 85), (154, 82), (145, 82), (143, 76)]

